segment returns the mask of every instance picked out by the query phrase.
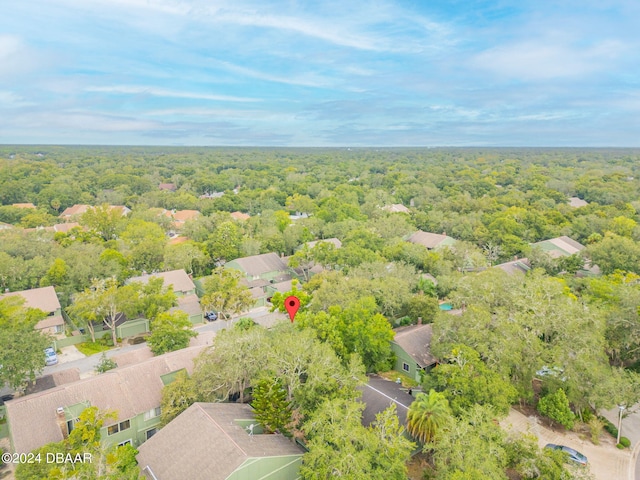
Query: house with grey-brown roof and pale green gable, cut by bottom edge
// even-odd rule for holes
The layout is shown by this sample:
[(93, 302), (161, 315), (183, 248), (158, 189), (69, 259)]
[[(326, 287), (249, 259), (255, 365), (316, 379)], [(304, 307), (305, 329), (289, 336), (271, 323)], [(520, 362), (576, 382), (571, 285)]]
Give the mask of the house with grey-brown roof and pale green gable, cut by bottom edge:
[(246, 404), (194, 403), (142, 444), (138, 466), (149, 479), (297, 480), (304, 451), (262, 433)]

